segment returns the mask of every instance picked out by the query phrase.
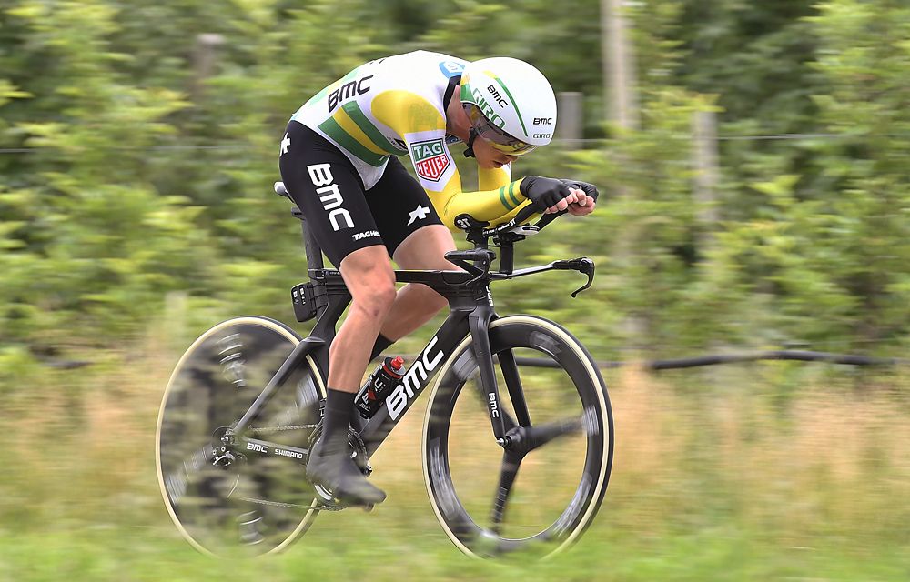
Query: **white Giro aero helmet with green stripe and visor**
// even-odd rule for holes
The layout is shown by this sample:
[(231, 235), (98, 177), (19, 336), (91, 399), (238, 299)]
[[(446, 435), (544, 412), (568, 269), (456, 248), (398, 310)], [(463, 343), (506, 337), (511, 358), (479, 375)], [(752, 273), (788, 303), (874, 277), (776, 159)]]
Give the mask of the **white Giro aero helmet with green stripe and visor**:
[(496, 56), (466, 65), (461, 106), (473, 133), (511, 156), (546, 146), (556, 130), (556, 95), (550, 82), (517, 58)]

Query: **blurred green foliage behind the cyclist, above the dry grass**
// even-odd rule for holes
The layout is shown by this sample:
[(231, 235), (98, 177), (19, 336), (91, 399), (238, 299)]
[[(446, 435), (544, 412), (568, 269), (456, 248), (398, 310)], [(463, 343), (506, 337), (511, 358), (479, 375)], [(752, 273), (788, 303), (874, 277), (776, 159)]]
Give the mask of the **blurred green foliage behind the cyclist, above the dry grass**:
[[(305, 265), (287, 203), (268, 192), (288, 115), (364, 60), (415, 48), (514, 55), (585, 95), (586, 147), (551, 146), (516, 174), (588, 179), (604, 198), (523, 243), (519, 260), (594, 256), (598, 279), (577, 299), (574, 281), (515, 282), (503, 311), (558, 318), (601, 358), (625, 346), (905, 345), (910, 8), (626, 10), (634, 131), (602, 115), (596, 0), (11, 0), (0, 9), (0, 374), (29, 354), (135, 336), (165, 316), (169, 293), (200, 326), (200, 314), (288, 320)], [(200, 34), (220, 35), (210, 62)], [(704, 111), (721, 135), (816, 136), (722, 141), (717, 219), (705, 221), (692, 131)]]

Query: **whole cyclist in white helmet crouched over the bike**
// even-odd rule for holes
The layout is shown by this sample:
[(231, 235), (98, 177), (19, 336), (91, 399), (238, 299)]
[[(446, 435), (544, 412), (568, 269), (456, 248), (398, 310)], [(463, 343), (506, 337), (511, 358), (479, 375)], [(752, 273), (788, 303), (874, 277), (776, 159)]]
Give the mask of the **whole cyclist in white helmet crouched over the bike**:
[[(456, 269), (444, 255), (455, 249), (450, 228), (462, 213), (500, 224), (525, 204), (578, 216), (594, 209), (590, 184), (511, 178), (511, 162), (549, 144), (555, 126), (556, 97), (532, 65), (425, 51), (360, 65), (291, 117), (280, 145), (281, 177), (352, 297), (329, 351), (311, 481), (349, 503), (385, 498), (350, 456), (354, 396), (370, 359), (447, 305), (428, 286), (396, 292), (389, 257), (404, 269)], [(450, 152), (459, 142), (477, 160), (477, 192), (461, 188)], [(404, 155), (417, 179), (399, 162)]]

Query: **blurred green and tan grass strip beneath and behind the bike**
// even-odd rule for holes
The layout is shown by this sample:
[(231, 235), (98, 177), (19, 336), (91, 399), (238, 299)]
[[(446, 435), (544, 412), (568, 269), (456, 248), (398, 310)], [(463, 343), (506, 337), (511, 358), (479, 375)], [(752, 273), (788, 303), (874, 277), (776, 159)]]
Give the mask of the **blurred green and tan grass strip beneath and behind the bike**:
[(612, 372), (610, 488), (581, 542), (544, 562), (479, 561), (450, 544), (424, 491), (414, 410), (373, 459), (386, 503), (319, 516), (278, 557), (231, 561), (197, 554), (164, 510), (154, 426), (176, 357), (151, 340), (146, 351), (141, 364), (109, 354), (4, 386), (0, 580), (910, 579), (910, 406), (897, 377)]

